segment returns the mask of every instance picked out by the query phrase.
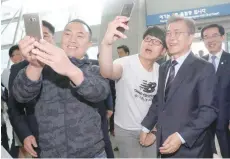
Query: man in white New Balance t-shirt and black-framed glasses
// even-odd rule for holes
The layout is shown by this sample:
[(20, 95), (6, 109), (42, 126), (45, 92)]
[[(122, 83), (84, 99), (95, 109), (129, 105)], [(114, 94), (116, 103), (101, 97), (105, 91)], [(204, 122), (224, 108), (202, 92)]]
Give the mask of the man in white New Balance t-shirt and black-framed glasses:
[(103, 77), (116, 81), (115, 140), (120, 158), (156, 157), (155, 135), (149, 133), (143, 147), (139, 144), (141, 121), (147, 114), (157, 92), (159, 65), (155, 62), (165, 53), (165, 32), (159, 27), (148, 28), (139, 54), (112, 60), (112, 44), (127, 38), (117, 30), (129, 19), (118, 16), (109, 23), (101, 43), (99, 64)]

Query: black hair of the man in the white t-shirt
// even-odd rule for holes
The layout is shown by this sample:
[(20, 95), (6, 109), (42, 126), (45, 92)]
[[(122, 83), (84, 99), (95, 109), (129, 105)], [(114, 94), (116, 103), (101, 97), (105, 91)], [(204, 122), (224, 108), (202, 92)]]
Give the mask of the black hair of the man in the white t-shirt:
[(161, 28), (158, 27), (158, 26), (151, 26), (151, 27), (148, 27), (148, 29), (144, 32), (144, 34), (143, 34), (143, 39), (144, 39), (147, 35), (154, 36), (154, 37), (160, 39), (161, 42), (162, 42), (162, 44), (163, 44), (163, 47), (166, 48), (165, 30), (161, 29)]

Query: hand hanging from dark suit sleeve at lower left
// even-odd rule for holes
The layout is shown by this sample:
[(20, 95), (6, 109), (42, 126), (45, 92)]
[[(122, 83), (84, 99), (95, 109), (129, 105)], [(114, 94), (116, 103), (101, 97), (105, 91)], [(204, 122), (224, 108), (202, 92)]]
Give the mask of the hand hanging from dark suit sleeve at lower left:
[(34, 136), (28, 136), (24, 139), (24, 148), (25, 150), (33, 157), (38, 157), (37, 152), (33, 147), (38, 147), (36, 139)]

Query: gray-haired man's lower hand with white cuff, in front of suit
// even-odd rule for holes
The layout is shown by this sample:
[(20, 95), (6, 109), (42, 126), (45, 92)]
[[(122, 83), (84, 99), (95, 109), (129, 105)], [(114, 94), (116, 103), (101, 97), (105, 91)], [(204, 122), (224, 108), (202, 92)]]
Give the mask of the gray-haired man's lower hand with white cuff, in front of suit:
[(165, 142), (163, 147), (160, 147), (161, 154), (172, 154), (176, 152), (182, 145), (181, 139), (177, 133), (170, 135)]

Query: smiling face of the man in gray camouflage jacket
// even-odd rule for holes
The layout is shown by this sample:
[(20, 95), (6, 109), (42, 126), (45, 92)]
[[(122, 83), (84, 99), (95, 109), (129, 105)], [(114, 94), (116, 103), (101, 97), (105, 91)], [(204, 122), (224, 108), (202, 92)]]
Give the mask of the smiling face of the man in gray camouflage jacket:
[(65, 27), (61, 47), (69, 57), (81, 59), (92, 45), (88, 28), (79, 22), (72, 22)]

